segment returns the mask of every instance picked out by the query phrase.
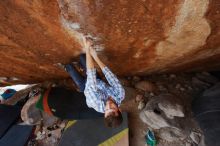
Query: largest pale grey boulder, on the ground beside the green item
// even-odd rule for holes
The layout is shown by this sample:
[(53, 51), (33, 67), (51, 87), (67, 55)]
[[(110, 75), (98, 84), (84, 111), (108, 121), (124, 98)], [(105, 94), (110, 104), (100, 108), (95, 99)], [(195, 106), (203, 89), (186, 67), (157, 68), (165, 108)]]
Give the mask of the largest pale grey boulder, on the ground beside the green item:
[(185, 140), (190, 132), (183, 106), (172, 94), (152, 98), (140, 112), (141, 120), (168, 142)]

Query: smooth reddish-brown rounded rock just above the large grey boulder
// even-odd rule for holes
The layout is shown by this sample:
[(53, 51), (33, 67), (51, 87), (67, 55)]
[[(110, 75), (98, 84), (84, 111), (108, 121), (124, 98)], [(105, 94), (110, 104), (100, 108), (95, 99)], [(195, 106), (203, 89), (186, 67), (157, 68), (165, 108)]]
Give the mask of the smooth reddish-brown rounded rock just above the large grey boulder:
[(156, 86), (149, 81), (140, 81), (135, 84), (135, 88), (146, 92), (154, 92)]

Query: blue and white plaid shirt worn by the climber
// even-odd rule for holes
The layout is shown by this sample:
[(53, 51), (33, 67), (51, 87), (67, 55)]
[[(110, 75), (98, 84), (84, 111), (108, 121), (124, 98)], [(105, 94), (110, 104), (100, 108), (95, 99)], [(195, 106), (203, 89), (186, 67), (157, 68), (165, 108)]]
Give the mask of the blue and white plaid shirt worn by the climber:
[(125, 97), (125, 91), (117, 77), (108, 67), (102, 69), (108, 84), (96, 78), (96, 69), (87, 70), (87, 81), (84, 94), (88, 107), (94, 108), (97, 112), (105, 112), (105, 104), (109, 97), (114, 99), (118, 106)]

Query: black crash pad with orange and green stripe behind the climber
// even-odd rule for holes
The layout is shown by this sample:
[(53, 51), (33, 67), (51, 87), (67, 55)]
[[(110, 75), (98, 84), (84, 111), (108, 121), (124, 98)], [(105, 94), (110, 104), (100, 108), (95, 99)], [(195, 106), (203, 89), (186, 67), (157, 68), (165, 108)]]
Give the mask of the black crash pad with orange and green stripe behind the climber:
[(65, 87), (52, 87), (42, 93), (36, 107), (60, 119), (103, 118), (104, 114), (89, 108), (84, 93)]

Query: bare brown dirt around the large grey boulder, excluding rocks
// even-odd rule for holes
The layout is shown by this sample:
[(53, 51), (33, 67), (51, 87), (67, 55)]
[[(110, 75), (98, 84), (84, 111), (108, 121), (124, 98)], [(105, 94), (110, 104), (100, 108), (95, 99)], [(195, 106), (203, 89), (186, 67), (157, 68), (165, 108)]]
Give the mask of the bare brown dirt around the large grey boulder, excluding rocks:
[[(204, 73), (206, 74), (206, 73)], [(152, 82), (155, 85), (163, 86), (166, 90), (156, 91), (154, 95), (150, 98), (154, 98), (161, 93), (172, 93), (183, 101), (184, 110), (186, 117), (188, 118), (188, 124), (195, 131), (200, 131), (198, 124), (193, 119), (193, 114), (191, 111), (191, 102), (194, 97), (200, 95), (203, 90), (208, 88), (211, 83), (206, 82), (196, 82), (196, 74), (187, 73), (187, 74), (178, 74), (178, 75), (154, 75), (142, 77), (141, 80), (147, 80)], [(199, 80), (200, 81), (200, 80)], [(131, 79), (132, 82), (132, 79)], [(128, 83), (127, 83), (128, 84)], [(132, 84), (132, 83), (131, 83)], [(137, 91), (136, 89), (130, 87), (125, 87), (126, 89), (126, 99), (122, 104), (122, 109), (128, 112), (128, 122), (129, 122), (129, 142), (130, 146), (145, 146), (145, 134), (149, 126), (141, 121), (139, 118), (140, 110), (138, 110), (138, 103), (135, 102), (135, 97), (137, 94), (143, 94)], [(146, 98), (146, 97), (145, 97)], [(146, 102), (150, 98), (146, 98)], [(156, 139), (158, 141), (158, 146), (185, 146), (186, 141), (178, 142), (167, 142), (157, 137), (157, 131), (154, 131), (156, 134)], [(201, 132), (201, 131), (200, 131)]]

